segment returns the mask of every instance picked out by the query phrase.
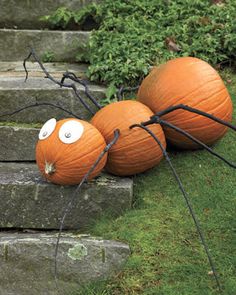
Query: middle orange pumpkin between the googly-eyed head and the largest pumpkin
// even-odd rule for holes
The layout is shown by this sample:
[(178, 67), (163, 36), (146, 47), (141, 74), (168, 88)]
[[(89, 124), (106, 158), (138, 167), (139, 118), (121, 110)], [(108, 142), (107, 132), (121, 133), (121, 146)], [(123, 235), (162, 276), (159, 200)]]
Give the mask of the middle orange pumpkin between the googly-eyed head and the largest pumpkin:
[[(140, 102), (126, 100), (111, 103), (99, 110), (91, 123), (101, 132), (108, 143), (115, 129), (120, 130), (117, 143), (110, 149), (106, 170), (120, 176), (143, 172), (162, 159), (162, 151), (153, 138), (140, 128), (130, 129), (132, 124), (146, 121), (153, 112)], [(159, 125), (150, 126), (164, 148), (165, 136)]]

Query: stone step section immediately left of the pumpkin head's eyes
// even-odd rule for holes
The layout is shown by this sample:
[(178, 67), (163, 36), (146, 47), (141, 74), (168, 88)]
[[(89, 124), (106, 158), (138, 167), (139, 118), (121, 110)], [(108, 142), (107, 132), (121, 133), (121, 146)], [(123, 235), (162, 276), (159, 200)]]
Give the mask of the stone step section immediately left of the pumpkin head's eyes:
[(0, 126), (0, 161), (34, 161), (39, 129)]

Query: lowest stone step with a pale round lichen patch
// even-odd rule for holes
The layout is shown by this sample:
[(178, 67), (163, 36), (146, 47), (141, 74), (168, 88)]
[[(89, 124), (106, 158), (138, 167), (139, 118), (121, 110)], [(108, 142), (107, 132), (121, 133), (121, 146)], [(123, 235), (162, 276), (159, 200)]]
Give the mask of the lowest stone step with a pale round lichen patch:
[[(72, 295), (85, 283), (119, 272), (130, 250), (123, 243), (63, 235), (54, 281), (57, 234), (0, 234), (1, 295)], [(74, 293), (74, 292), (75, 293)]]

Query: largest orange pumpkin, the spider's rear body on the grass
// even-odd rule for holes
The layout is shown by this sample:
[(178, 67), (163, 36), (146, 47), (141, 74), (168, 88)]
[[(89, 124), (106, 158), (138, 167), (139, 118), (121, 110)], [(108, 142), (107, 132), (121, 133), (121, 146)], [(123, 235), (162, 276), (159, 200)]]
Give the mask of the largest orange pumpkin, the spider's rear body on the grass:
[[(227, 122), (232, 119), (230, 95), (219, 74), (208, 63), (193, 57), (176, 58), (154, 67), (141, 83), (138, 101), (149, 106), (154, 113), (185, 104)], [(227, 127), (219, 123), (185, 110), (176, 110), (162, 119), (208, 145), (227, 131)], [(164, 132), (167, 140), (179, 148), (199, 147), (172, 129), (164, 127)]]

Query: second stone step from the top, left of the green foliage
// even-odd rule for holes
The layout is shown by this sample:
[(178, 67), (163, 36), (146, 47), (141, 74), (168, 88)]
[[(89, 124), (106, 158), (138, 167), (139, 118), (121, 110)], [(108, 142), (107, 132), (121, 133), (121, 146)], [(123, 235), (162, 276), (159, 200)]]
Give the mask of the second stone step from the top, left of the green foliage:
[(78, 52), (86, 50), (89, 34), (83, 31), (0, 29), (0, 60), (23, 60), (31, 46), (44, 61), (74, 61)]

